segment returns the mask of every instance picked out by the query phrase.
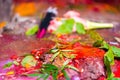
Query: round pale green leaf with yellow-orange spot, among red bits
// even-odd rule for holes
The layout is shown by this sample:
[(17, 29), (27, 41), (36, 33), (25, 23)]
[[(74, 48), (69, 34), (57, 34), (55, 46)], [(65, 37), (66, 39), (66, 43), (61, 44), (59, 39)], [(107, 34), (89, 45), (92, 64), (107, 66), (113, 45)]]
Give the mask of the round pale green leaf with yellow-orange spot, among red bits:
[(30, 65), (30, 67), (32, 67), (37, 64), (37, 61), (32, 55), (27, 55), (22, 59), (21, 64), (23, 67), (26, 67), (26, 64), (28, 64), (28, 65)]

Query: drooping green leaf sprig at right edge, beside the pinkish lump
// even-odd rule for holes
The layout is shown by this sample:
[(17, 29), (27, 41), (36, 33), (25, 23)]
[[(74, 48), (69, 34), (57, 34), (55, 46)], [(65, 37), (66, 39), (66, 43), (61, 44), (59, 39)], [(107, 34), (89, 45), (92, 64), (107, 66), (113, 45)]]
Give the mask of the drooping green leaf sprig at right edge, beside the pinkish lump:
[(104, 55), (104, 64), (107, 69), (107, 80), (119, 80), (119, 78), (114, 78), (114, 74), (111, 70), (111, 65), (114, 65), (114, 57), (120, 57), (120, 49), (115, 46), (110, 46), (108, 43), (103, 41), (101, 48), (108, 49)]

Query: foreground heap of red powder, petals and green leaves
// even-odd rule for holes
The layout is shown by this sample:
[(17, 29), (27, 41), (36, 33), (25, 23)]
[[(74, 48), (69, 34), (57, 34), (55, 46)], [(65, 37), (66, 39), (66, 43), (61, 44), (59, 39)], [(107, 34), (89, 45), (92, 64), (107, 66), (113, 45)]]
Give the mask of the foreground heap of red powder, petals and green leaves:
[[(3, 66), (3, 80), (119, 80), (120, 48), (109, 45), (96, 32), (86, 44), (79, 35), (50, 36), (55, 44), (24, 56), (11, 56)], [(22, 78), (21, 78), (22, 77)]]

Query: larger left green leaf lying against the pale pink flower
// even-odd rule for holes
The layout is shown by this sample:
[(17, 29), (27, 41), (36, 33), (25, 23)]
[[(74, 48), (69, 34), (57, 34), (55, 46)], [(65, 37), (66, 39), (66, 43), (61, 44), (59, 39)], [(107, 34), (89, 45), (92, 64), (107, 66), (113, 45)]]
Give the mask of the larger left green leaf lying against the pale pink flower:
[(73, 26), (74, 26), (74, 20), (73, 19), (67, 19), (63, 21), (63, 24), (61, 24), (58, 29), (55, 31), (57, 34), (69, 34), (72, 33)]

